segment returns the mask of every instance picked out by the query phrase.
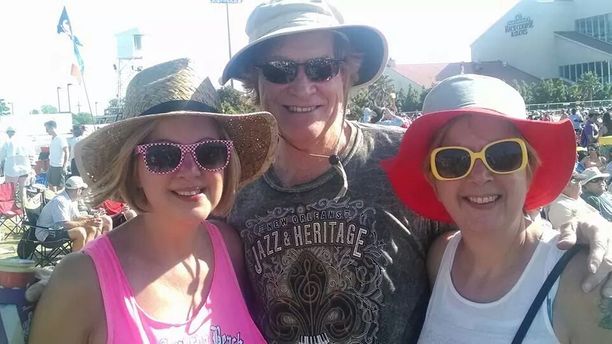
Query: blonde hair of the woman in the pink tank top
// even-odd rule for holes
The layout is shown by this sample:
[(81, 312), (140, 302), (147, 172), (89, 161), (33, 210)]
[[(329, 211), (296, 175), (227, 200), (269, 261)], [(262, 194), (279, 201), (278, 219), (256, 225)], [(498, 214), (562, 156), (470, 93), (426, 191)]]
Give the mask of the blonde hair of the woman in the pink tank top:
[[(138, 155), (134, 153), (136, 146), (143, 143), (155, 130), (157, 125), (165, 118), (154, 118), (137, 127), (126, 128), (131, 132), (126, 135), (121, 149), (109, 162), (109, 167), (99, 180), (94, 181), (91, 186), (92, 204), (101, 204), (107, 199), (115, 199), (126, 202), (131, 208), (139, 213), (147, 212), (148, 201), (144, 191), (137, 182), (136, 167)], [(215, 123), (217, 123), (215, 121)], [(228, 139), (225, 130), (217, 123), (217, 130), (221, 137)], [(240, 182), (240, 159), (234, 148), (230, 152), (230, 161), (224, 170), (223, 192), (219, 204), (213, 209), (212, 214), (225, 216), (234, 205), (236, 189)]]

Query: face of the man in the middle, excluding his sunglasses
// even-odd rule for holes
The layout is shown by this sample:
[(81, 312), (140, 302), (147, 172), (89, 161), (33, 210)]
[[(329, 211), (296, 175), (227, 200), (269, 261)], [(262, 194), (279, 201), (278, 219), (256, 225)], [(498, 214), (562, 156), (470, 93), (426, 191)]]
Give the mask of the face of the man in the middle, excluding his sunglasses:
[[(310, 32), (281, 39), (264, 60), (288, 59), (304, 62), (334, 56), (330, 32)], [(300, 67), (289, 84), (271, 83), (259, 77), (262, 109), (278, 121), (281, 134), (299, 148), (334, 145), (342, 127), (343, 83), (340, 72), (328, 81), (312, 82)]]

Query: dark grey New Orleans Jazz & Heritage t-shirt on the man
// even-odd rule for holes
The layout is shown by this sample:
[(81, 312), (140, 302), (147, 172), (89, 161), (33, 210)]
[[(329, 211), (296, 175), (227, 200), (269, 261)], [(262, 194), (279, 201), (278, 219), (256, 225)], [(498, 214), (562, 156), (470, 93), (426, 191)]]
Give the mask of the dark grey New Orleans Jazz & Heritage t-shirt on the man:
[(251, 311), (270, 343), (412, 343), (429, 297), (426, 250), (435, 222), (407, 210), (380, 168), (399, 128), (351, 123), (342, 178), (333, 169), (286, 188), (272, 171), (238, 195), (254, 293)]

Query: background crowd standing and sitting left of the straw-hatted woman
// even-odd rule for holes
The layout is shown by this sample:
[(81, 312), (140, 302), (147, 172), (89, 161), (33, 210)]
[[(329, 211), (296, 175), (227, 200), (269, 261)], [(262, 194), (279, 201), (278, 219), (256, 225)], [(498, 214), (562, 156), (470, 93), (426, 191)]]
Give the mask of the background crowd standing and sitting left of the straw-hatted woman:
[[(26, 208), (34, 203), (37, 207), (30, 209), (30, 214), (37, 216), (36, 239), (41, 243), (69, 240), (72, 250), (79, 251), (136, 213), (124, 203), (117, 210), (117, 202), (112, 200), (97, 206), (87, 203), (87, 184), (79, 177), (74, 162), (74, 146), (84, 137), (84, 125), (73, 126), (73, 135), (68, 139), (58, 135), (55, 121), (44, 126), (50, 135), (48, 154), (36, 154), (25, 135), (16, 135), (17, 130), (8, 127), (8, 139), (0, 147), (0, 170), (4, 182), (14, 185), (19, 206)], [(40, 200), (41, 206), (30, 202), (32, 198)], [(24, 233), (23, 237), (26, 240), (28, 236)]]

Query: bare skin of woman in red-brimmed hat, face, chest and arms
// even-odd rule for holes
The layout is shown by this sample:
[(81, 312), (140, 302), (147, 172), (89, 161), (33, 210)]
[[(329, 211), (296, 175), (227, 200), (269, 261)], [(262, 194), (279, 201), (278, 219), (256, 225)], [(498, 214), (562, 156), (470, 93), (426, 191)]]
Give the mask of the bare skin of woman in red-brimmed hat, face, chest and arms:
[[(520, 137), (508, 121), (485, 116), (465, 116), (443, 134), (440, 146), (463, 146), (480, 151), (486, 144)], [(432, 177), (433, 178), (433, 177)], [(542, 226), (529, 226), (523, 205), (530, 186), (527, 169), (496, 174), (477, 161), (470, 174), (459, 180), (432, 184), (438, 199), (461, 231), (451, 267), (454, 289), (465, 299), (491, 303), (509, 295), (522, 278), (538, 247)], [(570, 181), (564, 193), (579, 195), (578, 184)], [(442, 236), (429, 253), (428, 271), (435, 281), (448, 243)], [(612, 328), (606, 315), (607, 301), (600, 291), (580, 289), (586, 253), (579, 253), (565, 268), (554, 299), (553, 329), (561, 343), (609, 343)]]

